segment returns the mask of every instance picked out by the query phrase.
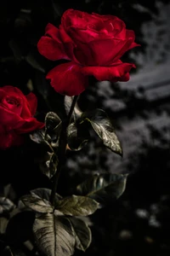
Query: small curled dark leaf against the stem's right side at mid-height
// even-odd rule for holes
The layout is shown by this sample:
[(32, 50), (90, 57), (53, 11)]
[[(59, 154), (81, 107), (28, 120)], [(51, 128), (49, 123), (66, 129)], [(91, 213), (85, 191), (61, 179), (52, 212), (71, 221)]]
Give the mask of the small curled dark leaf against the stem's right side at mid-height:
[(71, 150), (81, 150), (88, 143), (89, 132), (81, 126), (78, 123), (71, 123), (67, 128), (67, 142)]

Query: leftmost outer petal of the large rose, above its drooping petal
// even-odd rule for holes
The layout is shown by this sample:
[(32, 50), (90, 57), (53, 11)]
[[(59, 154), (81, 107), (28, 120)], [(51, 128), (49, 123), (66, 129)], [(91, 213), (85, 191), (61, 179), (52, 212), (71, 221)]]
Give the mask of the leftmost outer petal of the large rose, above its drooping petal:
[(48, 60), (69, 60), (68, 55), (65, 53), (64, 45), (60, 40), (59, 29), (50, 23), (45, 28), (45, 36), (38, 41), (37, 49)]

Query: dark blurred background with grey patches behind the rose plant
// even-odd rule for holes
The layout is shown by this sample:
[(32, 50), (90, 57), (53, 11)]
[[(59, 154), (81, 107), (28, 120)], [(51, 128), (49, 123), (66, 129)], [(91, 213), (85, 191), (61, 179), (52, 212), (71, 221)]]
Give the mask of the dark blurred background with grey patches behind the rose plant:
[[(169, 1), (161, 1), (161, 4), (167, 4), (170, 9)], [(92, 81), (94, 86), (83, 92), (79, 99), (82, 110), (103, 108), (114, 119), (125, 148), (124, 156), (121, 159), (109, 153), (94, 136), (80, 153), (68, 154), (68, 162), (59, 179), (59, 193), (69, 195), (74, 186), (92, 172), (128, 172), (129, 176), (122, 197), (92, 216), (93, 242), (87, 252), (77, 251), (75, 255), (169, 255), (170, 75), (167, 73), (165, 79), (164, 73), (160, 73), (162, 81), (159, 83), (153, 75), (155, 68), (159, 72), (170, 63), (167, 58), (169, 23), (166, 18), (159, 20), (161, 5), (157, 7), (154, 0), (1, 1), (0, 86), (14, 85), (26, 94), (32, 90), (38, 99), (37, 119), (43, 120), (49, 110), (61, 118), (65, 116), (63, 96), (55, 93), (45, 79), (48, 70), (59, 62), (42, 57), (37, 51), (37, 41), (47, 23), (58, 26), (60, 16), (69, 8), (117, 15), (128, 29), (133, 29), (136, 42), (141, 44), (122, 58), (122, 61), (136, 64), (137, 68), (131, 72), (136, 84), (132, 79), (126, 83), (127, 88), (117, 83), (107, 84), (106, 90), (105, 84)], [(155, 44), (150, 43), (151, 32), (159, 26), (161, 32), (158, 30)], [(167, 44), (162, 44), (165, 41)], [(156, 59), (159, 49), (160, 59)], [(132, 86), (134, 89), (130, 90)], [(165, 90), (165, 87), (163, 94), (161, 88)], [(14, 201), (30, 189), (50, 188), (51, 183), (38, 165), (41, 155), (40, 148), (29, 137), (22, 147), (1, 151), (2, 194), (9, 183), (14, 189), (14, 195), (11, 195)]]

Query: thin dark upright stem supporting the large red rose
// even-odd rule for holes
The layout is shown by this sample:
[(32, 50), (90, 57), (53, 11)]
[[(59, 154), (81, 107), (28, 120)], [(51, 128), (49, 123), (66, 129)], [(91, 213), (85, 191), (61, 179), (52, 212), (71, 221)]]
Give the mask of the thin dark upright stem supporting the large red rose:
[(62, 129), (61, 129), (61, 133), (60, 133), (60, 137), (59, 137), (59, 153), (58, 153), (59, 163), (57, 166), (57, 171), (54, 174), (54, 183), (53, 183), (53, 188), (52, 188), (51, 195), (50, 195), (50, 202), (52, 203), (52, 205), (54, 205), (55, 193), (56, 193), (56, 189), (57, 189), (57, 185), (58, 185), (58, 181), (59, 181), (59, 175), (61, 172), (61, 168), (65, 163), (65, 150), (66, 150), (66, 144), (67, 144), (66, 130), (67, 130), (68, 125), (70, 125), (70, 123), (71, 123), (71, 116), (74, 111), (74, 108), (75, 108), (75, 105), (77, 102), (77, 98), (78, 98), (78, 96), (74, 96), (68, 116), (65, 119), (65, 121), (63, 121), (63, 123), (62, 123)]

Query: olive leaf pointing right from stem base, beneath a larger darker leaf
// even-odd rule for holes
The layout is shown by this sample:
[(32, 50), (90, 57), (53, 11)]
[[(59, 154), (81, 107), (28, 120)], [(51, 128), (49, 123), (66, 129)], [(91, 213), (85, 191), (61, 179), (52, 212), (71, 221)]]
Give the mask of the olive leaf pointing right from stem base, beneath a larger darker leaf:
[(71, 195), (58, 201), (57, 210), (65, 215), (87, 216), (98, 209), (99, 203), (86, 196)]

